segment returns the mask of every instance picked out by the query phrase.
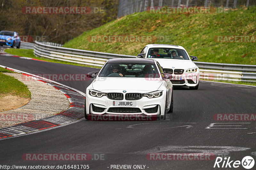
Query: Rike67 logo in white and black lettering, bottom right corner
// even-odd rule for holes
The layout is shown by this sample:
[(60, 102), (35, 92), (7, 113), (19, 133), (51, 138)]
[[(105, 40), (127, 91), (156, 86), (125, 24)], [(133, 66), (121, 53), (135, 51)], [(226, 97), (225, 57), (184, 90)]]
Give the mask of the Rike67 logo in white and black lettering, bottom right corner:
[(224, 159), (222, 159), (221, 157), (217, 157), (214, 163), (214, 168), (218, 167), (218, 168), (238, 168), (241, 165), (245, 168), (245, 169), (251, 169), (254, 166), (254, 159), (251, 156), (245, 156), (242, 161), (240, 160), (231, 160), (230, 157), (225, 157)]

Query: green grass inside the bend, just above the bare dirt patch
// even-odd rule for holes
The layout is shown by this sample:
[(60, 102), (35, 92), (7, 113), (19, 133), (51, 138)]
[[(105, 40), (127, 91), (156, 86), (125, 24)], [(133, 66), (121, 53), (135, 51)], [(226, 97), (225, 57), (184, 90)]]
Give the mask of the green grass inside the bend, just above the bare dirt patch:
[(22, 82), (2, 73), (13, 73), (10, 70), (0, 67), (0, 97), (6, 95), (31, 97), (28, 87)]

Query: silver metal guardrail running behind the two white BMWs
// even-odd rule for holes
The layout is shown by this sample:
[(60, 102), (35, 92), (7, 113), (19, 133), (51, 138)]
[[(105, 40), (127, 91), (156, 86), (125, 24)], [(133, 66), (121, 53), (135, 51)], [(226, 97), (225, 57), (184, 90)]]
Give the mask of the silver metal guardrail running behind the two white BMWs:
[[(108, 59), (136, 58), (132, 55), (103, 53), (74, 48), (65, 48), (35, 41), (34, 54), (38, 57), (68, 61), (78, 64), (102, 67)], [(194, 61), (200, 68), (203, 80), (227, 80), (256, 82), (256, 65), (209, 63)], [(255, 72), (255, 73), (247, 73)]]

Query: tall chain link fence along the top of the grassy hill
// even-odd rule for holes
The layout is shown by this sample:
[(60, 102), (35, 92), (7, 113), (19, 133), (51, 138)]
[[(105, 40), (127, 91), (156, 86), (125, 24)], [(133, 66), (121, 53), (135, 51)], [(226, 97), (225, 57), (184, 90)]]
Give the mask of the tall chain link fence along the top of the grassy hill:
[(223, 7), (223, 8), (239, 8), (256, 5), (256, 0), (119, 0), (118, 18), (132, 14), (134, 12), (142, 12), (150, 9), (150, 7)]

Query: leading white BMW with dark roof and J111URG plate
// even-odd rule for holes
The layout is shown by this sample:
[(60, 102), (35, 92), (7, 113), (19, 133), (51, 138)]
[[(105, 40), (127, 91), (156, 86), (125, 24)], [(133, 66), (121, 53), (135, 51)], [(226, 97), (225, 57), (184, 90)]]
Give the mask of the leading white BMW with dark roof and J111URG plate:
[(171, 74), (156, 60), (108, 60), (86, 89), (84, 117), (89, 120), (159, 120), (173, 111)]

